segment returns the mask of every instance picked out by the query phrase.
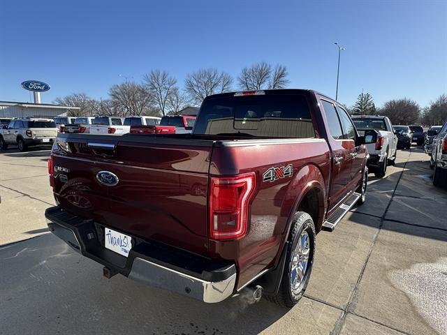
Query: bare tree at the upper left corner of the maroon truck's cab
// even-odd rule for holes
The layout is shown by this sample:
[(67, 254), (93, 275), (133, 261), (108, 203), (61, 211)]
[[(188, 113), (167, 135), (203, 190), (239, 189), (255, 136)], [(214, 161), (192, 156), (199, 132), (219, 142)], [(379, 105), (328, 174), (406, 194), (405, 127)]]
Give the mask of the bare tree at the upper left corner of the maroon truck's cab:
[(184, 80), (185, 91), (196, 105), (200, 105), (207, 96), (230, 91), (231, 84), (233, 78), (215, 68), (201, 68), (186, 75)]

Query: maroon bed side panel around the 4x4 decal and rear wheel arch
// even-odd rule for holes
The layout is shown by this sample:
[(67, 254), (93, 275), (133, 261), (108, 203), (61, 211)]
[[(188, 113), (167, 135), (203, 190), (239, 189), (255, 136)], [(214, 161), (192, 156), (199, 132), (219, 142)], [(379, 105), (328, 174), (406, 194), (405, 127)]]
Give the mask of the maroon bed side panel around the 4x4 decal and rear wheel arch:
[[(268, 162), (268, 163), (266, 163)], [(263, 181), (270, 168), (291, 164), (293, 174), (275, 181)], [(323, 139), (284, 140), (251, 146), (214, 147), (210, 176), (255, 172), (256, 188), (249, 207), (247, 234), (233, 241), (210, 239), (212, 257), (235, 260), (240, 276), (237, 288), (263, 269), (270, 267), (284, 245), (288, 218), (298, 207), (300, 198), (315, 187), (321, 195), (321, 227), (325, 211), (325, 189), (330, 174), (330, 151)]]

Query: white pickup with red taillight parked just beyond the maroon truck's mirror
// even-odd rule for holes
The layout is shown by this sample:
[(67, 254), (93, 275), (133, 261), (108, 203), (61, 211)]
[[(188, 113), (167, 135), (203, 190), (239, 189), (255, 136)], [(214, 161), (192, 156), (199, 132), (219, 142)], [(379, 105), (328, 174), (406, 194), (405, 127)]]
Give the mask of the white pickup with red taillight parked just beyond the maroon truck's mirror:
[(368, 168), (376, 177), (385, 177), (388, 165), (394, 165), (397, 156), (397, 135), (388, 117), (379, 115), (353, 115), (354, 124), (360, 135), (369, 129), (378, 131), (377, 141), (368, 144)]

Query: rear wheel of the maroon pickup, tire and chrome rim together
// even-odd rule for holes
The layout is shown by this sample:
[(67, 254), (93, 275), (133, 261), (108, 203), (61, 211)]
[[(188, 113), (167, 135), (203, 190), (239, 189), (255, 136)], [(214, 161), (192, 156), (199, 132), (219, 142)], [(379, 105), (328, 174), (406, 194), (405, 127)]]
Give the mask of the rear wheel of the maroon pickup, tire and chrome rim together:
[(293, 218), (288, 238), (286, 265), (276, 295), (266, 299), (284, 307), (293, 307), (300, 301), (309, 283), (315, 253), (315, 225), (312, 217), (299, 211)]

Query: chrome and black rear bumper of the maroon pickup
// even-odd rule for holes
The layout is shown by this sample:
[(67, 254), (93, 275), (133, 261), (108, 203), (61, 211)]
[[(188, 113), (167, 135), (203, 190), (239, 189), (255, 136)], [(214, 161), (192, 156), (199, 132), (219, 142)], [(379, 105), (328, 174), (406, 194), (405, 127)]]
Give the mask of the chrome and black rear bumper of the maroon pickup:
[(103, 225), (60, 207), (45, 211), (48, 228), (75, 251), (147, 285), (214, 303), (233, 295), (236, 267), (187, 251), (132, 237), (129, 257), (104, 247)]

